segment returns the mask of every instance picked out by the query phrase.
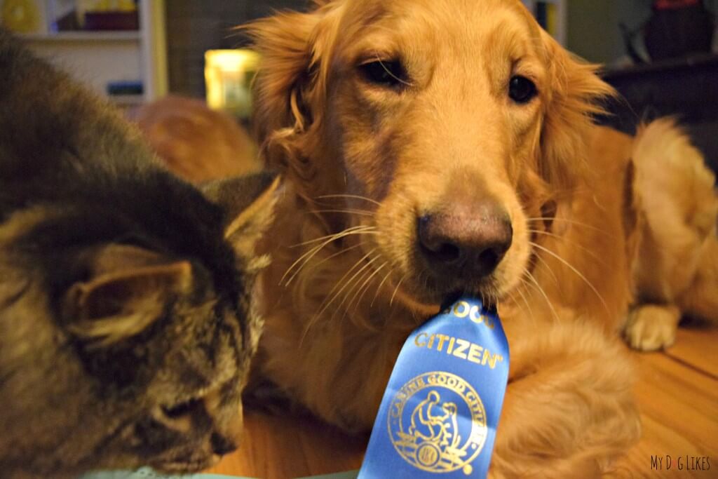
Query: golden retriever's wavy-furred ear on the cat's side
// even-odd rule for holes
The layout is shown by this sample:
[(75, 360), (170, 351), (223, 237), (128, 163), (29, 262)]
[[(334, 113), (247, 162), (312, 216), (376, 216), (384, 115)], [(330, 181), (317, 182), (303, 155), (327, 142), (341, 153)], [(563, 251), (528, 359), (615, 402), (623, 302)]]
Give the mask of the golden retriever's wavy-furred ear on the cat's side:
[(309, 13), (282, 12), (242, 27), (262, 60), (255, 79), (254, 124), (271, 169), (307, 180), (325, 102), (328, 58), (341, 1), (315, 1)]

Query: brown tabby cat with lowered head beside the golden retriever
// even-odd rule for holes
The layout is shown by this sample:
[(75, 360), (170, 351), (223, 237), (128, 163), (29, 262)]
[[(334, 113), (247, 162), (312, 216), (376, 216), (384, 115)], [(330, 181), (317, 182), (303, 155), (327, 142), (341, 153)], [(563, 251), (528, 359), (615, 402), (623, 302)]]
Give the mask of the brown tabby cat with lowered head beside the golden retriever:
[(0, 32), (0, 476), (187, 473), (236, 449), (276, 188), (169, 175)]

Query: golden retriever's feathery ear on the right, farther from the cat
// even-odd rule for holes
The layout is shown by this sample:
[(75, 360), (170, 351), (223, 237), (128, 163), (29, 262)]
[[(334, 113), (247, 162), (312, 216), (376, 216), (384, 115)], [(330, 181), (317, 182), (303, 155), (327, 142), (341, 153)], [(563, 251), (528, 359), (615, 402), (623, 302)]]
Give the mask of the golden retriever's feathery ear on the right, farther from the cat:
[(569, 190), (587, 167), (587, 141), (592, 116), (603, 113), (598, 103), (615, 90), (592, 65), (564, 50), (541, 31), (549, 67), (545, 119), (541, 131), (541, 176), (556, 190)]

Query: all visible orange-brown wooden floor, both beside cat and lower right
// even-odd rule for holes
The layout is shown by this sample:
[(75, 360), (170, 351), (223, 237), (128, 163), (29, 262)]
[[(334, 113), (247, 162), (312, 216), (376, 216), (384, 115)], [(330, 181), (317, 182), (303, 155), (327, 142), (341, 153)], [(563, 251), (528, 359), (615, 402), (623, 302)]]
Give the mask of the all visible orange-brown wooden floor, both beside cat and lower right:
[[(639, 375), (635, 394), (643, 439), (612, 477), (718, 478), (718, 328), (681, 328), (669, 350), (632, 354)], [(358, 469), (361, 464), (366, 437), (347, 437), (312, 419), (251, 411), (245, 422), (241, 449), (211, 472), (297, 478)], [(651, 456), (661, 457), (661, 469), (651, 468)], [(696, 469), (707, 465), (709, 470)]]

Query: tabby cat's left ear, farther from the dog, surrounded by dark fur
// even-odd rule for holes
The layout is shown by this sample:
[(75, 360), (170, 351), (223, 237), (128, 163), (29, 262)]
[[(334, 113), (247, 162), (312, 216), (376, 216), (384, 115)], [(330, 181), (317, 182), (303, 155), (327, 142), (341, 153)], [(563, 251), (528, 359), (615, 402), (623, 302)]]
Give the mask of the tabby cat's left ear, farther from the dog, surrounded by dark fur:
[(143, 332), (167, 304), (192, 288), (192, 266), (134, 246), (110, 245), (93, 259), (90, 279), (65, 294), (67, 329), (92, 348)]

